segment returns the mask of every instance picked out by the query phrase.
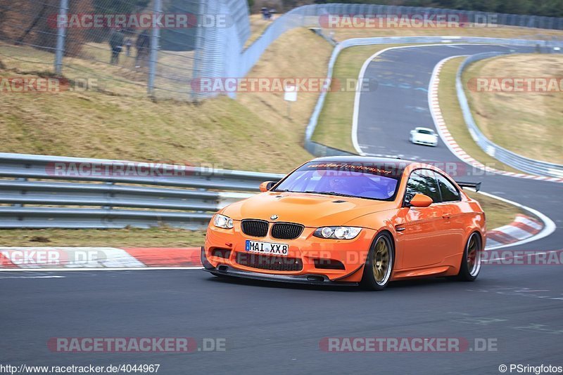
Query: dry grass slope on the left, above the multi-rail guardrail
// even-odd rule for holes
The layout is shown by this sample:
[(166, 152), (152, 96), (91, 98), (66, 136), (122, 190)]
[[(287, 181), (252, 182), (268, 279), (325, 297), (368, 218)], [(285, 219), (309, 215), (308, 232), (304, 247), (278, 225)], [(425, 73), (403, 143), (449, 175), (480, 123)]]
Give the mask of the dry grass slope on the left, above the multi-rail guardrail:
[[(331, 49), (307, 29), (294, 29), (267, 49), (249, 75), (324, 76)], [(49, 74), (21, 61), (41, 58), (34, 53), (42, 51), (6, 45), (0, 50), (10, 55), (0, 55), (0, 79)], [(301, 145), (318, 93), (300, 93), (289, 118), (283, 93), (239, 93), (236, 100), (220, 96), (200, 104), (153, 101), (137, 95), (137, 86), (121, 83), (121, 67), (89, 60), (80, 64), (112, 79), (99, 90), (1, 93), (2, 152), (282, 173), (310, 159)]]

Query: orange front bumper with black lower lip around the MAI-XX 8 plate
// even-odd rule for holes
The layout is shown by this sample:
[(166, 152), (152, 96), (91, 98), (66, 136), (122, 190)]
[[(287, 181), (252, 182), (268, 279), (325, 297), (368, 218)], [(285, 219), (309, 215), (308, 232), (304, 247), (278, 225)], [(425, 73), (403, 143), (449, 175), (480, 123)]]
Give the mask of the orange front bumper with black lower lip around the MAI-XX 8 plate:
[[(284, 240), (272, 238), (270, 235), (260, 238), (248, 237), (243, 235), (239, 227), (240, 223), (235, 223), (235, 228), (232, 230), (221, 230), (210, 225), (201, 252), (201, 262), (205, 270), (214, 275), (299, 284), (357, 285), (362, 279), (367, 252), (376, 234), (376, 231), (364, 228), (355, 239), (320, 239), (312, 236), (314, 228), (305, 228), (297, 239)], [(286, 257), (270, 257), (269, 254), (248, 252), (244, 246), (246, 239), (287, 244), (289, 254)], [(217, 250), (228, 251), (228, 254), (217, 256)], [(301, 265), (297, 268), (264, 268), (253, 263), (241, 263), (239, 256), (259, 256), (269, 258), (268, 261), (274, 263), (285, 260), (297, 261)], [(328, 261), (330, 267), (322, 261)], [(339, 268), (334, 268), (336, 264)]]

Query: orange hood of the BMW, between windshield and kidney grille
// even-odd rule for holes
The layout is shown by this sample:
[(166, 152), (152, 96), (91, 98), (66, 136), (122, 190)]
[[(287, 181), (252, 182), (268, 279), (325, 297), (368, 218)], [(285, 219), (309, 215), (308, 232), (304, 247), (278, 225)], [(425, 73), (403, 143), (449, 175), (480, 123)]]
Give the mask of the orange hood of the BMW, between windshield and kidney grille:
[(360, 216), (396, 208), (395, 202), (298, 192), (263, 192), (225, 207), (233, 220), (245, 218), (300, 223), (306, 227), (346, 225)]

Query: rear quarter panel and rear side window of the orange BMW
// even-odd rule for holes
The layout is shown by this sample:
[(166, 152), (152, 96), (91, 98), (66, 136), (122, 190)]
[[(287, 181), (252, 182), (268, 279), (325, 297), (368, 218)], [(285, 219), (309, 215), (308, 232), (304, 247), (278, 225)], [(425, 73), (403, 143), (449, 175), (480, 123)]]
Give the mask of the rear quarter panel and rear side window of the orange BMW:
[[(440, 206), (444, 218), (444, 239), (449, 242), (445, 248), (445, 257), (451, 257), (464, 251), (465, 214), (460, 205), (461, 195), (457, 187), (441, 173), (436, 173), (436, 180), (442, 197)], [(458, 257), (455, 257), (455, 261), (457, 260)]]

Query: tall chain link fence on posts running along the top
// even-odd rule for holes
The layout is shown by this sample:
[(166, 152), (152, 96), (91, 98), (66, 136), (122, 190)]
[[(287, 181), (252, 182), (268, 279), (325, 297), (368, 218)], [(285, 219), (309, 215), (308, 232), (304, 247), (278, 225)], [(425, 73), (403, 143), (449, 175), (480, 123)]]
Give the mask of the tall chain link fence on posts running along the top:
[[(201, 100), (201, 78), (244, 77), (281, 34), (327, 15), (446, 15), (563, 29), (563, 18), (372, 4), (295, 8), (251, 36), (246, 0), (0, 0), (0, 68), (63, 74), (118, 96)], [(195, 80), (195, 81), (194, 81)], [(234, 93), (230, 93), (234, 96)]]

